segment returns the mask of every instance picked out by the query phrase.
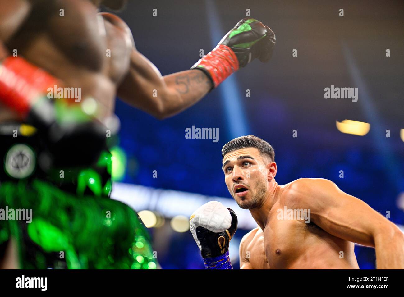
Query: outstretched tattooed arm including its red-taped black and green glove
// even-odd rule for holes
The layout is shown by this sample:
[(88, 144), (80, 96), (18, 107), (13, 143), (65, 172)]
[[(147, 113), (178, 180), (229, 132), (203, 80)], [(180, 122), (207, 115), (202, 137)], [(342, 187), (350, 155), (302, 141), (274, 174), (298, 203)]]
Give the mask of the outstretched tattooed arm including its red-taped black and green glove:
[[(124, 23), (110, 15), (109, 19), (120, 27)], [(125, 26), (124, 29), (132, 36)], [(194, 105), (239, 67), (256, 58), (262, 62), (269, 61), (274, 45), (275, 34), (269, 27), (256, 19), (244, 18), (213, 51), (194, 64), (192, 70), (166, 76), (161, 76), (134, 46), (130, 70), (118, 88), (118, 97), (156, 118), (167, 118)]]

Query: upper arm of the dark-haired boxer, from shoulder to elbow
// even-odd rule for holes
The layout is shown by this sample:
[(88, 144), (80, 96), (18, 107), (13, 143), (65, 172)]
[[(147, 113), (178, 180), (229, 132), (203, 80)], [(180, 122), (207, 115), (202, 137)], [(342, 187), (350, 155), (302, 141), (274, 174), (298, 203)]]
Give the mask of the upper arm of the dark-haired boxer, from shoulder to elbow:
[(307, 179), (297, 187), (293, 208), (310, 210), (310, 220), (324, 231), (366, 246), (391, 225), (362, 200), (341, 191), (326, 179)]

